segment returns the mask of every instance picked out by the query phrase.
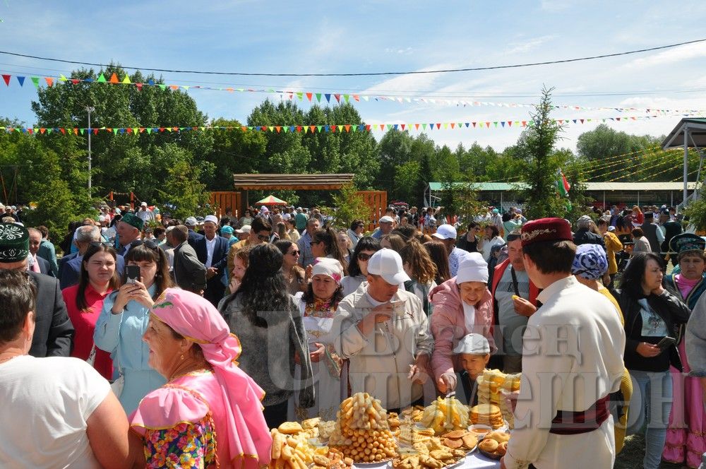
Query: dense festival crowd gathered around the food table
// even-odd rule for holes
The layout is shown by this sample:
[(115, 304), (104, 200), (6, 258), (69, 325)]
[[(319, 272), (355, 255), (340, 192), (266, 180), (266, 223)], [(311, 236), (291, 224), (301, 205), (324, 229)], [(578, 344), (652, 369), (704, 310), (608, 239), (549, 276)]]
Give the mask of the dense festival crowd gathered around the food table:
[(610, 468), (638, 432), (644, 468), (695, 468), (706, 242), (670, 209), (572, 224), (489, 207), (460, 225), (390, 207), (366, 234), (316, 208), (102, 206), (58, 258), (7, 215), (0, 465), (256, 468), (285, 421), (334, 420), (356, 392), (392, 412), (474, 405), (491, 368), (522, 376), (504, 468)]

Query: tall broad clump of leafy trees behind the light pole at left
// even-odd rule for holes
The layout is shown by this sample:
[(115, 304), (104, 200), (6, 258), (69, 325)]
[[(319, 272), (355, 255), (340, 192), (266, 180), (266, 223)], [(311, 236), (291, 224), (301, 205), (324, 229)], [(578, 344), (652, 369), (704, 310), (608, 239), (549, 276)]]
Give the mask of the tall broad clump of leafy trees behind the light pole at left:
[[(116, 73), (122, 80), (126, 72), (119, 65), (106, 69), (80, 69), (71, 78), (94, 80), (103, 74), (109, 78)], [(188, 131), (194, 126), (205, 126), (207, 117), (198, 111), (196, 102), (181, 90), (160, 87), (162, 80), (144, 76), (137, 71), (129, 76), (132, 83), (156, 85), (128, 86), (110, 83), (62, 84), (40, 88), (32, 110), (37, 114), (41, 127), (87, 127), (88, 110), (92, 107), (91, 127), (100, 128), (152, 128), (162, 126), (183, 127), (181, 132), (108, 133), (100, 131), (91, 136), (93, 196), (103, 196), (108, 191), (134, 191), (143, 200), (152, 200), (161, 184), (162, 165), (157, 160), (156, 148), (173, 143), (196, 155), (192, 164), (202, 173), (213, 172), (205, 158), (210, 155), (213, 133)], [(90, 205), (88, 193), (83, 189), (88, 181), (88, 136), (40, 136), (48, 148), (61, 159), (61, 177), (77, 191), (77, 196)]]

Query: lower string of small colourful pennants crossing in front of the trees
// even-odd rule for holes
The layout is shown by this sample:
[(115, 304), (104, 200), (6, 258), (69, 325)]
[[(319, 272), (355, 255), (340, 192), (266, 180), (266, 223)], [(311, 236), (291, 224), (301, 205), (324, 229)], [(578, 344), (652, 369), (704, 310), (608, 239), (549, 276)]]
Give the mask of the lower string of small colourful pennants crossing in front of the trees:
[[(630, 116), (630, 117), (600, 117), (590, 119), (552, 119), (560, 125), (580, 125), (590, 123), (605, 123), (605, 122), (632, 122), (644, 119), (655, 119), (664, 117), (661, 115), (654, 116)], [(681, 117), (696, 117), (688, 114), (682, 114)], [(262, 131), (276, 133), (335, 133), (335, 132), (370, 132), (370, 131), (388, 131), (408, 130), (408, 131), (439, 131), (443, 130), (463, 130), (463, 129), (513, 129), (523, 128), (534, 125), (534, 121), (470, 121), (470, 122), (423, 122), (414, 124), (317, 124), (317, 125), (277, 125), (277, 126), (195, 126), (195, 127), (100, 127), (100, 129), (88, 129), (85, 127), (0, 127), (7, 133), (20, 132), (30, 135), (44, 135), (51, 133), (61, 133), (61, 135), (84, 135), (90, 132), (94, 135), (98, 133), (119, 134), (134, 134), (139, 133), (173, 133), (185, 131)]]

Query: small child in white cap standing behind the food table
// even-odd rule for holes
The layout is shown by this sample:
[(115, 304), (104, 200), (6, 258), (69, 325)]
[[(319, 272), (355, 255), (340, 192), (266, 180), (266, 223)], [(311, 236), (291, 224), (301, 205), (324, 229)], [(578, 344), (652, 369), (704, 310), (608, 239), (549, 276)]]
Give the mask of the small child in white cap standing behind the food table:
[(462, 403), (477, 405), (478, 387), (476, 379), (483, 374), (490, 361), (490, 344), (488, 339), (480, 334), (468, 334), (459, 340), (453, 349), (458, 363), (463, 369), (459, 381), (463, 388), (463, 396), (456, 396)]

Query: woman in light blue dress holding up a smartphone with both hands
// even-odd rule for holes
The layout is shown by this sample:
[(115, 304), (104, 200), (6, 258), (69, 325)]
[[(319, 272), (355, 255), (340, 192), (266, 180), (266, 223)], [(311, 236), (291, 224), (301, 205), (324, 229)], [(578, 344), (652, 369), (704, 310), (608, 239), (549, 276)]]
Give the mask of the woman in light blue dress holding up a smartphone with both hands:
[(152, 240), (132, 242), (125, 262), (124, 285), (105, 299), (93, 340), (114, 357), (118, 379), (123, 381), (118, 398), (130, 415), (143, 397), (166, 382), (148, 365), (150, 349), (142, 336), (152, 304), (172, 287), (172, 279), (167, 254)]

